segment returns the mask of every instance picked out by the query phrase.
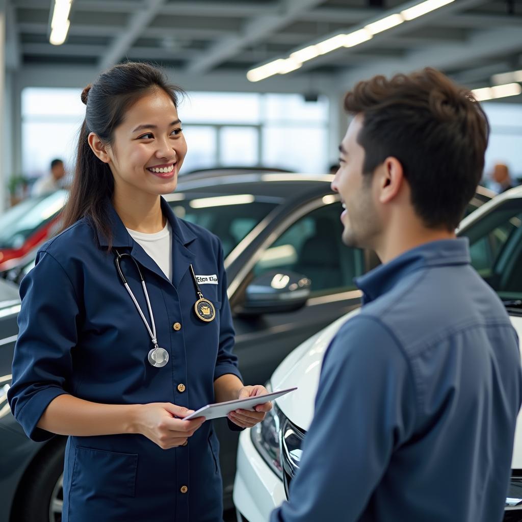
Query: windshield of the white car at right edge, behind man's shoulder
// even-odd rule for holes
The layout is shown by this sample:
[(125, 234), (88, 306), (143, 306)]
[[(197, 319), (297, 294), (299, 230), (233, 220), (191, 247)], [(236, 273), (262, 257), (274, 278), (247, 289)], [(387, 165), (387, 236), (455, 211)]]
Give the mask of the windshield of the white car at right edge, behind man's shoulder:
[(522, 198), (506, 199), (460, 235), (471, 264), (503, 301), (522, 299)]

